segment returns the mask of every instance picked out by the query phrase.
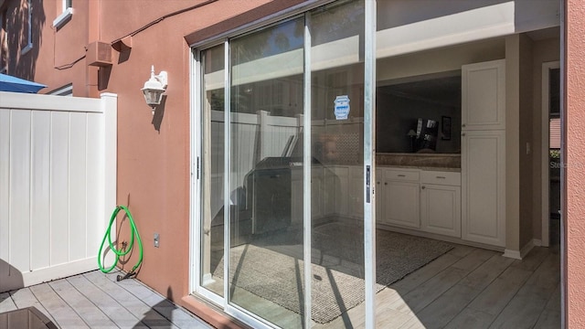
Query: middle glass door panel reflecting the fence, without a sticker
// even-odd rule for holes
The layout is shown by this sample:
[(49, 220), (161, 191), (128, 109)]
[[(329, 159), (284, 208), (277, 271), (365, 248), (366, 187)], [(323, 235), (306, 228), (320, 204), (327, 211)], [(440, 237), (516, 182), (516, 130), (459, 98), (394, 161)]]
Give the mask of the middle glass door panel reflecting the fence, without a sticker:
[(230, 40), (229, 302), (302, 327), (303, 17)]

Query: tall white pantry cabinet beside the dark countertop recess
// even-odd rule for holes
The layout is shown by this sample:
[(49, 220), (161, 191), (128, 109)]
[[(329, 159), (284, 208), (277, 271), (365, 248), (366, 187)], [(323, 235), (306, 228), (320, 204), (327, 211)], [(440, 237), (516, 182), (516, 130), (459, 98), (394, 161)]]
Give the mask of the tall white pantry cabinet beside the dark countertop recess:
[(505, 246), (505, 60), (462, 67), (462, 239)]

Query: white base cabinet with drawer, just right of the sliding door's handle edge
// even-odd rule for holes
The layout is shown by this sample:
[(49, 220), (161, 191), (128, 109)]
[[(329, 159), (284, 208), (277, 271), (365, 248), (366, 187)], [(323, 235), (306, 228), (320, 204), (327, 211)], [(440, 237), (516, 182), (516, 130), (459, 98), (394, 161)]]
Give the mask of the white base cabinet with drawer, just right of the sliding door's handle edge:
[(418, 170), (383, 170), (378, 222), (407, 228), (420, 228), (420, 174)]

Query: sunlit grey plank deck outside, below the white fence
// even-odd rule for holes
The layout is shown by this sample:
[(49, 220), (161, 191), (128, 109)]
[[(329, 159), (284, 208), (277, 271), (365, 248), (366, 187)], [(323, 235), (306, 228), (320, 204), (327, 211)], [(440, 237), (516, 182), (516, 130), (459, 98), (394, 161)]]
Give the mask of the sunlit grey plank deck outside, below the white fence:
[(91, 271), (0, 293), (0, 313), (35, 306), (62, 329), (211, 328), (141, 282), (115, 277)]

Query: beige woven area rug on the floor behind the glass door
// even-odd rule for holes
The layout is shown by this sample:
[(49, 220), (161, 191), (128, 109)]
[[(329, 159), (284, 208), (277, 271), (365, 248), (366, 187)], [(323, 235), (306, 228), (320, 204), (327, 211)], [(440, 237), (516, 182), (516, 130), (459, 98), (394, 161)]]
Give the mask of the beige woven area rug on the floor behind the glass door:
[[(329, 223), (314, 228), (312, 318), (326, 324), (364, 302), (363, 230)], [(299, 234), (230, 249), (232, 284), (295, 313), (303, 310), (303, 246)], [(275, 243), (279, 241), (280, 243)], [(377, 231), (377, 292), (452, 249), (434, 239)], [(223, 277), (223, 261), (214, 276)]]

